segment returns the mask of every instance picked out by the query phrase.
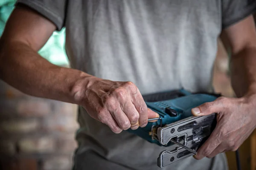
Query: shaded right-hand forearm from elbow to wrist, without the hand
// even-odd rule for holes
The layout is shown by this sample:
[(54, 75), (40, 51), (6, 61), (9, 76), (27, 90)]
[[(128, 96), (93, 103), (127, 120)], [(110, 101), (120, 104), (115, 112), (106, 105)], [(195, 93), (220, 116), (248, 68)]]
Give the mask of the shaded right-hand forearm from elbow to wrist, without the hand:
[(244, 48), (230, 60), (231, 83), (236, 96), (256, 93), (256, 46)]

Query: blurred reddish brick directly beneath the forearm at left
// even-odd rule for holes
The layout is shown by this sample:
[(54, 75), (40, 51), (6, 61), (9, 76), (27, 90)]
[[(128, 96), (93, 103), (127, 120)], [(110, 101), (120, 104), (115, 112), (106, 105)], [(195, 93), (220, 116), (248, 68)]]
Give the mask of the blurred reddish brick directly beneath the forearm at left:
[(20, 100), (18, 102), (18, 114), (22, 116), (47, 116), (52, 112), (51, 103), (48, 99), (32, 99)]

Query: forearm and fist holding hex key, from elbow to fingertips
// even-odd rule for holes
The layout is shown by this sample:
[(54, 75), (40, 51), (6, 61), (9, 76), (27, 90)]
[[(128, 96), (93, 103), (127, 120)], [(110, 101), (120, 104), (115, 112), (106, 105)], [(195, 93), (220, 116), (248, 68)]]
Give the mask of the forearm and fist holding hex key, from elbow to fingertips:
[(114, 133), (145, 127), (148, 118), (159, 117), (147, 108), (132, 82), (104, 80), (58, 67), (24, 42), (8, 42), (0, 47), (0, 79), (26, 94), (81, 105)]

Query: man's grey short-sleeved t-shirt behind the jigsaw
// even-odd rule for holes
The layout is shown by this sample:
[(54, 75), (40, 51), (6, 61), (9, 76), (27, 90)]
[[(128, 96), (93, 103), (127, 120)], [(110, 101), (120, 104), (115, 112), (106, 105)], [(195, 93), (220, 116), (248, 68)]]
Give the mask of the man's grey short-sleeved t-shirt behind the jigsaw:
[[(212, 91), (217, 38), (251, 14), (254, 0), (18, 0), (66, 27), (73, 68), (96, 77), (131, 81), (142, 94), (185, 88)], [(40, 34), (40, 33), (38, 33)], [(112, 133), (79, 108), (77, 169), (158, 170), (167, 149), (134, 134)], [(224, 154), (183, 159), (171, 169), (224, 169)]]

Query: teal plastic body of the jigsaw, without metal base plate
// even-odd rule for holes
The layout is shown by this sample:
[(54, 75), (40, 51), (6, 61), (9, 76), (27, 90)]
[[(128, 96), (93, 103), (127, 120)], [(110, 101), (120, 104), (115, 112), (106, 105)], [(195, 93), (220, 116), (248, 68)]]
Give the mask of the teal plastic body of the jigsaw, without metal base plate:
[[(212, 102), (218, 97), (218, 95), (213, 95), (213, 94), (204, 94), (204, 93), (192, 94), (189, 91), (186, 91), (184, 89), (180, 89), (179, 93), (182, 95), (175, 97), (173, 99), (162, 99), (154, 102), (147, 102), (145, 100), (145, 103), (148, 106), (148, 108), (150, 108), (152, 111), (155, 111), (159, 114), (160, 118), (162, 119), (162, 126), (165, 126), (173, 122), (177, 122), (179, 120), (192, 116), (192, 113), (191, 113), (192, 108), (202, 105), (205, 102)], [(171, 111), (169, 111), (168, 109)], [(174, 112), (175, 114), (170, 114), (170, 112)], [(148, 142), (161, 145), (158, 142), (158, 140), (152, 139), (152, 136), (150, 135), (152, 126), (160, 126), (160, 119), (157, 120), (157, 122), (148, 122), (148, 125), (146, 127), (143, 127), (143, 128), (139, 127), (137, 130), (128, 129), (128, 131), (136, 134), (137, 136), (142, 137)], [(165, 146), (169, 146), (169, 145), (165, 145)]]

